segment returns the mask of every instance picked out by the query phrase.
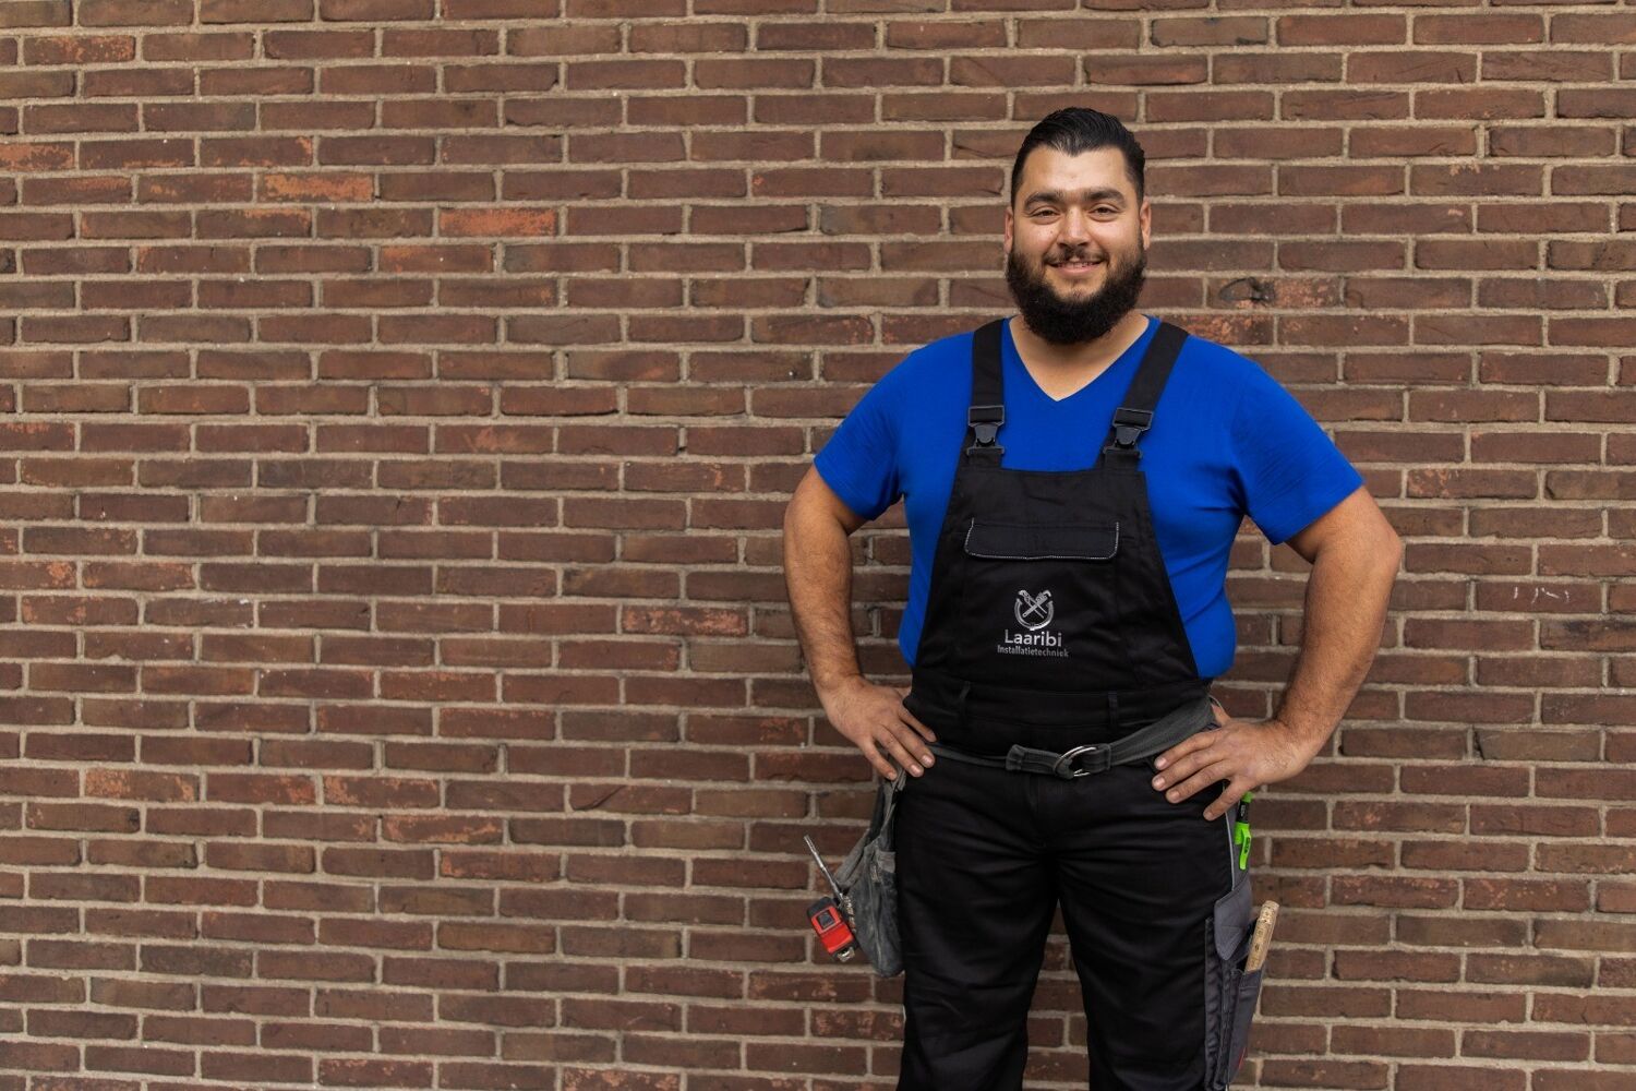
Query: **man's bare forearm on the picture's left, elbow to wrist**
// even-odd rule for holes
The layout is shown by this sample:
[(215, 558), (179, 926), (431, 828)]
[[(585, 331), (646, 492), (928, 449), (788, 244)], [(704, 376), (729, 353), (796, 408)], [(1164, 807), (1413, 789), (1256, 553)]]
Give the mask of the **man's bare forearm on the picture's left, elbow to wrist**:
[(852, 635), (852, 551), (846, 528), (815, 509), (784, 520), (784, 582), (813, 689), (862, 677)]

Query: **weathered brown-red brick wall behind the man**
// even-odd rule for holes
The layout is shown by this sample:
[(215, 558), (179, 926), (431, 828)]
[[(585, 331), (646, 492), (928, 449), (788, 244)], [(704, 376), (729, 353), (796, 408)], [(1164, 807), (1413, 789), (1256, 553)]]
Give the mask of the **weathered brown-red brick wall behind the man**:
[[(1258, 795), (1245, 1084), (1636, 1086), (1636, 15), (1072, 0), (0, 5), (0, 1091), (888, 1088), (802, 909), (869, 803), (784, 502), (1009, 309), (1126, 118), (1144, 309), (1407, 541)], [(856, 537), (905, 682), (901, 509)], [(1247, 525), (1229, 707), (1304, 563)], [(1054, 936), (1031, 1086), (1083, 1086)]]

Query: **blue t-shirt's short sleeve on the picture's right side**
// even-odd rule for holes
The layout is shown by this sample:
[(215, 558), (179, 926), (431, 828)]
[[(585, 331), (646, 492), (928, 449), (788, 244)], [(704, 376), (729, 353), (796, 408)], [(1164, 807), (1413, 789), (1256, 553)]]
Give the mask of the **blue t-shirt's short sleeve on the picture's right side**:
[(1266, 540), (1301, 533), (1363, 484), (1312, 414), (1255, 361), (1245, 361), (1232, 422), (1243, 507)]

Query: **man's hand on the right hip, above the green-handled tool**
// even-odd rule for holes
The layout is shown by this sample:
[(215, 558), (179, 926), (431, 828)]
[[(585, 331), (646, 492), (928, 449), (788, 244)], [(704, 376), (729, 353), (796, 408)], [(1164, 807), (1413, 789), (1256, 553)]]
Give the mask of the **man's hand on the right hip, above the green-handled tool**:
[(1283, 720), (1234, 720), (1219, 705), (1211, 708), (1220, 726), (1176, 743), (1153, 762), (1160, 770), (1153, 787), (1171, 803), (1227, 780), (1227, 788), (1204, 808), (1204, 818), (1214, 821), (1245, 792), (1289, 780), (1317, 757), (1312, 744)]

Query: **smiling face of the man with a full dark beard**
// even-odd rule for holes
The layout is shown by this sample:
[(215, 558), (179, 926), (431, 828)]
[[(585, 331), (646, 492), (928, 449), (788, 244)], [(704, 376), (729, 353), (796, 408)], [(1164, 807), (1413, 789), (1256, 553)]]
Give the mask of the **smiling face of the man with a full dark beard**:
[(1054, 345), (1096, 340), (1129, 314), (1147, 275), (1152, 209), (1135, 204), (1117, 147), (1036, 147), (1006, 209), (1006, 286)]

